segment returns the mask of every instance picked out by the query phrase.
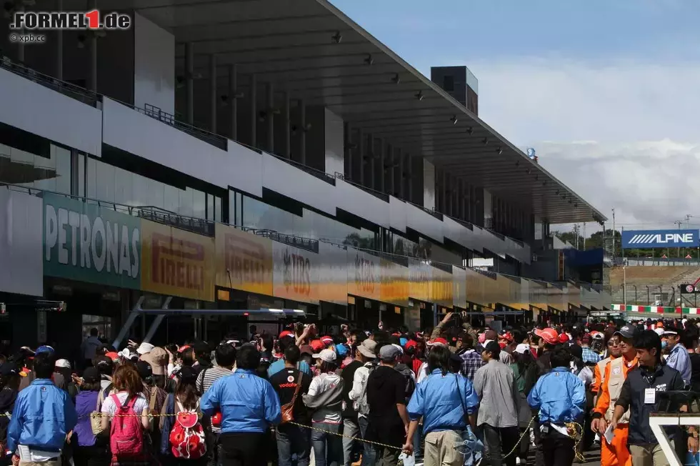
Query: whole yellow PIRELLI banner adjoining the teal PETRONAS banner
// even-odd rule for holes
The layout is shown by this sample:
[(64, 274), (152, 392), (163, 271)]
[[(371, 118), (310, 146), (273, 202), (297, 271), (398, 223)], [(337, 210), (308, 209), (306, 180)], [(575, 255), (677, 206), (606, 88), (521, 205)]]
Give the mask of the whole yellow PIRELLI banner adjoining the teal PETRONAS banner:
[(214, 301), (214, 238), (141, 221), (141, 289)]

